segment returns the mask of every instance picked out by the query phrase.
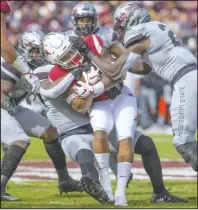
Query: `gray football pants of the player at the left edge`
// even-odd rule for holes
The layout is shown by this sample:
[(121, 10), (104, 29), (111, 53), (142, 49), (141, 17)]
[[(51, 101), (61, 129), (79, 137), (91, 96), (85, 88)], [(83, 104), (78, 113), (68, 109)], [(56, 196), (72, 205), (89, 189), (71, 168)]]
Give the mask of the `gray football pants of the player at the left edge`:
[(1, 143), (6, 145), (17, 140), (30, 142), (28, 135), (40, 137), (50, 126), (47, 118), (25, 107), (18, 106), (14, 116), (1, 109)]

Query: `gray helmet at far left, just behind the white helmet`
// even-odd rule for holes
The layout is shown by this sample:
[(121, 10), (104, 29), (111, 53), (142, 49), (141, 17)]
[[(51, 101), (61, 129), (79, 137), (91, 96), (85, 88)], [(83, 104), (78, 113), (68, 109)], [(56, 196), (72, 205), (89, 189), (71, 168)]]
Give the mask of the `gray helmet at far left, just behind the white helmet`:
[(17, 42), (17, 50), (26, 59), (27, 63), (35, 67), (42, 65), (46, 60), (42, 52), (42, 41), (45, 34), (42, 31), (25, 31)]

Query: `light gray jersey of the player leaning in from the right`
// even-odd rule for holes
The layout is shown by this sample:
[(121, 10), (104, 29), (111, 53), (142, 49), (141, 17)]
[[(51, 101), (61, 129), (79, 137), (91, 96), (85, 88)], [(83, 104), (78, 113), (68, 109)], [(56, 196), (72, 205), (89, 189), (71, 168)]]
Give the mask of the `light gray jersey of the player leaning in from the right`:
[(149, 38), (151, 43), (141, 59), (171, 84), (174, 82), (174, 76), (181, 69), (196, 69), (196, 58), (180, 45), (175, 34), (166, 24), (152, 21), (132, 26), (125, 33), (124, 45), (128, 47), (130, 43), (144, 38)]

